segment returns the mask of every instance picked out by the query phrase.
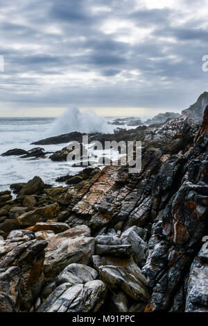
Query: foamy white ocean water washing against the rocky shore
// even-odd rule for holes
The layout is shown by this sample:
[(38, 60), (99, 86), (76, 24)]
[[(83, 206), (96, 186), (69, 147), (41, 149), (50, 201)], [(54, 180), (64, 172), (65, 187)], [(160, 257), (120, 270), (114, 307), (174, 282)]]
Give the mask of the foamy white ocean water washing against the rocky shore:
[[(79, 120), (77, 118), (77, 114), (80, 115)], [(7, 152), (9, 149), (33, 149), (34, 147), (38, 146), (31, 145), (32, 142), (47, 138), (49, 136), (58, 136), (61, 133), (71, 131), (101, 131), (101, 126), (107, 128), (107, 132), (113, 132), (114, 128), (116, 128), (116, 126), (111, 126), (111, 129), (109, 129), (107, 126), (107, 121), (112, 121), (116, 119), (116, 117), (104, 118), (93, 116), (91, 118), (91, 116), (83, 116), (82, 114), (77, 113), (77, 111), (75, 112), (75, 116), (76, 119), (74, 119), (70, 111), (67, 113), (67, 116), (61, 116), (58, 118), (0, 117), (0, 155)], [(87, 118), (89, 120), (88, 122)], [(64, 120), (70, 120), (70, 123), (64, 125)], [(94, 122), (93, 124), (92, 120)], [(71, 123), (71, 121), (73, 123)], [(105, 132), (105, 128), (103, 128), (103, 132)], [(127, 129), (130, 129), (130, 127), (127, 127)], [(65, 146), (67, 145), (59, 144), (44, 145), (40, 147), (44, 148), (46, 152), (55, 152)], [(33, 179), (35, 175), (41, 177), (46, 184), (51, 184), (51, 186), (64, 186), (64, 184), (56, 183), (55, 179), (69, 173), (73, 175), (80, 170), (83, 170), (82, 168), (78, 167), (71, 168), (67, 162), (53, 162), (49, 159), (50, 155), (51, 154), (47, 154), (45, 158), (0, 156), (0, 191), (9, 190), (10, 184), (27, 182)]]

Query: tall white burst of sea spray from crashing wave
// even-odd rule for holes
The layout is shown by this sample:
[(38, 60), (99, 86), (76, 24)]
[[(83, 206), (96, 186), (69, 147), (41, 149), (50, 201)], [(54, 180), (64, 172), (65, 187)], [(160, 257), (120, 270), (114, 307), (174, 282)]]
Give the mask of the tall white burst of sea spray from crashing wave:
[(64, 114), (57, 117), (49, 131), (49, 136), (79, 131), (81, 133), (113, 133), (113, 127), (107, 124), (104, 117), (94, 111), (81, 112), (78, 108), (67, 108)]

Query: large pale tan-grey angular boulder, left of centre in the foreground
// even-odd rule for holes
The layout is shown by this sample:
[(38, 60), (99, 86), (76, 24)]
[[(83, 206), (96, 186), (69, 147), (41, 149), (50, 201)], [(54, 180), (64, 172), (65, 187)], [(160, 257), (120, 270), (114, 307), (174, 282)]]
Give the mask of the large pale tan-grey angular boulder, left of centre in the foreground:
[(95, 239), (85, 225), (49, 238), (44, 261), (46, 277), (58, 275), (70, 263), (88, 264), (94, 254)]

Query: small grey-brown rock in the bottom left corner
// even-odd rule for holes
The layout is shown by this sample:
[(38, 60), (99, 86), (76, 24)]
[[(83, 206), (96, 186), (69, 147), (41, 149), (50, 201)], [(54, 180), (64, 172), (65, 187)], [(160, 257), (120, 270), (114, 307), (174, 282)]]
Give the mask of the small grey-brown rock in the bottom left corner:
[(19, 279), (21, 270), (18, 267), (0, 270), (0, 312), (17, 312), (19, 310)]

